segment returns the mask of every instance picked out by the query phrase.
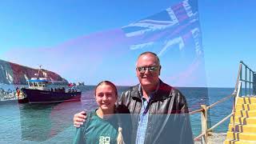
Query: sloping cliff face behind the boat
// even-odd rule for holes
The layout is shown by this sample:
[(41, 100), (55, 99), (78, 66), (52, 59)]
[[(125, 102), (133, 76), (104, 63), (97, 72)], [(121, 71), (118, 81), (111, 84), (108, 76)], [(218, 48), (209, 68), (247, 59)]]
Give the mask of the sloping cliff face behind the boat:
[[(26, 80), (37, 77), (38, 69), (27, 66), (21, 66), (12, 62), (6, 62), (0, 59), (0, 83), (5, 84), (26, 84)], [(53, 81), (66, 81), (60, 75), (54, 72), (43, 70), (39, 73), (39, 78), (47, 78)]]

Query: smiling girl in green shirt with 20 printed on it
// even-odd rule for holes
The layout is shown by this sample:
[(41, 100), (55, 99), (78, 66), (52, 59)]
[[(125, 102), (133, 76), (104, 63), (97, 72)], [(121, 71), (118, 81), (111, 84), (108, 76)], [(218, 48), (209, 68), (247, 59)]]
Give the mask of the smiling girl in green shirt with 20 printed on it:
[[(120, 109), (115, 106), (118, 99), (118, 91), (112, 82), (102, 81), (95, 87), (95, 100), (98, 109), (87, 114), (86, 122), (80, 126), (75, 134), (74, 143), (130, 143), (129, 134), (124, 133), (129, 119), (126, 117), (126, 125), (118, 113)], [(129, 114), (130, 116), (130, 114)]]

